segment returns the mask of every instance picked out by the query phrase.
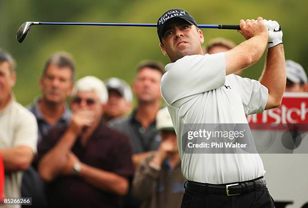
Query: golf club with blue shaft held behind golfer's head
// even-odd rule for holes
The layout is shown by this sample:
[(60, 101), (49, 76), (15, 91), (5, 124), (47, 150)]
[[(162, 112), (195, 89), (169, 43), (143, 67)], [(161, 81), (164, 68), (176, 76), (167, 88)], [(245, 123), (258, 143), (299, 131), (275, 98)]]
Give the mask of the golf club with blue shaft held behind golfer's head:
[[(16, 39), (22, 43), (27, 37), (32, 25), (92, 25), (92, 26), (133, 26), (133, 27), (157, 27), (157, 24), (135, 24), (135, 23), (73, 23), (73, 22), (25, 22), (16, 33)], [(240, 30), (239, 25), (198, 25), (198, 28), (216, 28)]]

